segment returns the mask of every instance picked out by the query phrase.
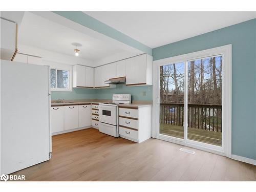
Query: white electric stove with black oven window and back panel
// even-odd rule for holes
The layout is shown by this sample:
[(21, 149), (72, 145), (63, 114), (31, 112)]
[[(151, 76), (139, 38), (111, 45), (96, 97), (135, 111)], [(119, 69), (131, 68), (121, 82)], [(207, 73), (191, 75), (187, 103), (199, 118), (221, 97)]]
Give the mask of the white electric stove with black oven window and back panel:
[(119, 137), (118, 104), (130, 104), (130, 94), (113, 94), (112, 102), (99, 103), (99, 131)]

